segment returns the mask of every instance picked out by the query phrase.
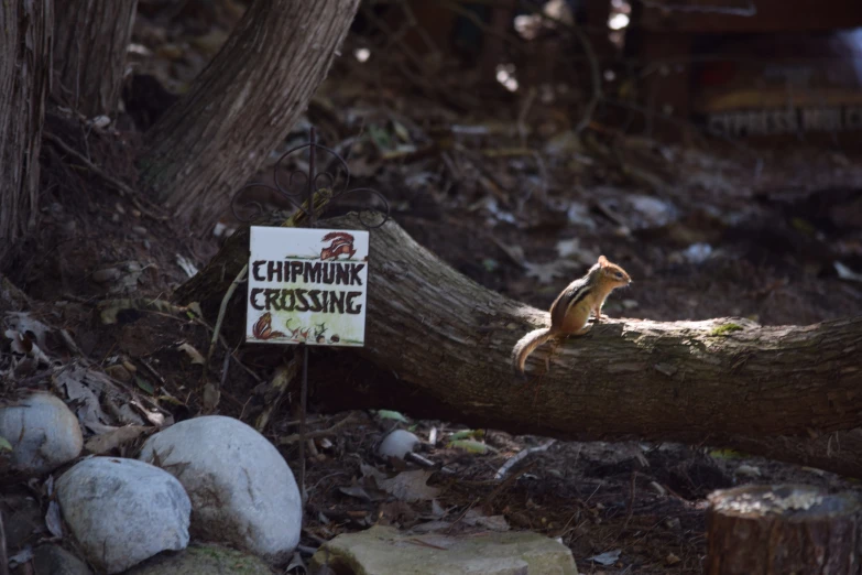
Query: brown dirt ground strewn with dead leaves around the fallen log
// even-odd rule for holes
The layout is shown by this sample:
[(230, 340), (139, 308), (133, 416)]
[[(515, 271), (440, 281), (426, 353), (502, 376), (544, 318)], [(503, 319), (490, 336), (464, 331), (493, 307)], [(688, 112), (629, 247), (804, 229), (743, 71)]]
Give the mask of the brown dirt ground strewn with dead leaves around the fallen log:
[[(555, 119), (559, 113), (552, 107), (528, 115), (535, 131), (522, 141), (519, 102), (511, 98), (501, 96), (490, 112), (455, 112), (408, 89), (374, 87), (370, 74), (353, 68), (336, 67), (306, 121), (323, 143), (348, 150), (358, 182), (385, 194), (392, 217), (417, 241), (490, 289), (546, 308), (604, 253), (634, 279), (609, 301), (611, 316), (745, 316), (781, 325), (862, 312), (859, 278), (841, 271), (862, 272), (862, 154), (804, 143), (781, 150), (705, 139), (663, 144), (608, 128), (601, 117), (572, 140), (567, 133), (574, 121)], [(141, 145), (133, 118), (148, 120), (140, 108), (127, 112), (116, 130), (99, 131), (54, 111), (46, 131), (103, 166), (110, 178), (131, 183)], [(305, 126), (285, 147), (302, 141)], [(466, 126), (476, 129), (457, 129)], [(63, 360), (86, 359), (98, 368), (128, 360), (138, 367), (131, 390), (173, 398), (162, 404), (177, 421), (197, 414), (200, 366), (178, 346), (205, 352), (208, 328), (161, 312), (126, 312), (117, 324), (103, 325), (97, 304), (111, 297), (170, 300), (188, 278), (183, 261), (201, 269), (222, 239), (195, 235), (145, 199), (119, 193), (51, 140), (43, 165), (39, 232), (9, 276), (32, 300), (30, 313), (74, 336), (77, 351), (54, 344)], [(227, 211), (223, 221), (236, 225)], [(105, 280), (98, 272), (106, 269), (120, 270), (120, 278)], [(239, 334), (227, 339), (234, 346)], [(228, 364), (219, 411), (253, 424), (273, 359), (239, 355), (243, 366)], [(223, 358), (219, 348), (210, 377), (221, 375)], [(296, 432), (295, 391), (292, 405), (266, 428), (274, 441)], [(320, 412), (318, 403), (313, 392), (312, 431), (348, 416)], [(303, 544), (317, 546), (375, 522), (406, 528), (440, 517), (452, 523), (450, 532), (481, 531), (462, 520), (476, 509), (502, 516), (512, 529), (560, 538), (582, 573), (700, 573), (705, 497), (712, 490), (743, 482), (859, 489), (828, 473), (717, 451), (721, 446), (637, 442), (557, 442), (525, 458), (501, 484), (493, 476), (503, 463), (546, 438), (487, 430), (488, 453), (448, 446), (447, 434), (469, 423), (399, 423), (362, 412), (323, 434), (308, 458)], [(351, 489), (363, 485), (361, 464), (386, 468), (374, 448), (396, 426), (426, 442), (436, 430), (436, 444), (425, 445), (422, 455), (450, 471), (428, 481), (440, 489), (443, 516), (429, 502), (407, 505)], [(295, 443), (283, 453), (297, 469)]]

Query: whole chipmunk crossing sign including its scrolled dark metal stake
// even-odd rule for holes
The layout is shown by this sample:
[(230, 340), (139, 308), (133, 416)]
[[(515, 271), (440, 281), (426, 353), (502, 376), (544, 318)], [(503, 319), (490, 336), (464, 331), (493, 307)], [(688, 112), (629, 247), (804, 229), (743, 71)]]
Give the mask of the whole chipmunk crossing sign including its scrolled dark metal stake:
[[(282, 162), (293, 156), (296, 152), (308, 149), (307, 171), (302, 169), (282, 170)], [(330, 158), (331, 162), (318, 172), (317, 154), (323, 153)], [(330, 167), (332, 170), (330, 170)], [(284, 177), (287, 177), (287, 185), (283, 186)], [(303, 181), (304, 178), (304, 181)], [(340, 182), (343, 182), (340, 184)], [(377, 196), (382, 203), (382, 219), (373, 225), (368, 224), (359, 214), (359, 219), (367, 231), (352, 230), (317, 230), (323, 234), (316, 238), (317, 251), (313, 252), (309, 248), (315, 238), (309, 239), (309, 234), (293, 234), (296, 228), (252, 228), (252, 240), (250, 242), (249, 261), (249, 297), (247, 307), (249, 317), (247, 318), (247, 341), (264, 341), (270, 344), (299, 345), (303, 354), (302, 388), (299, 394), (299, 480), (303, 503), (306, 501), (305, 492), (305, 434), (306, 434), (306, 404), (308, 399), (308, 344), (314, 345), (363, 345), (364, 340), (364, 297), (365, 282), (368, 274), (368, 230), (379, 228), (389, 219), (390, 207), (386, 198), (373, 188), (358, 187), (350, 188), (350, 170), (347, 162), (334, 150), (320, 145), (316, 141), (315, 129), (309, 130), (308, 143), (297, 145), (286, 151), (273, 166), (274, 185), (253, 183), (243, 186), (231, 200), (233, 215), (240, 221), (251, 223), (264, 215), (263, 206), (259, 202), (247, 203), (245, 206), (253, 207), (253, 214), (249, 217), (238, 211), (238, 200), (249, 188), (261, 187), (269, 189), (275, 195), (286, 199), (297, 210), (306, 216), (306, 228), (316, 228), (318, 207), (315, 206), (315, 194), (318, 191), (327, 191), (331, 194), (329, 202), (323, 205), (321, 213), (325, 213), (332, 203), (337, 202), (346, 194), (365, 192)], [(323, 185), (326, 184), (326, 185)], [(339, 185), (340, 184), (340, 185)], [(337, 187), (338, 186), (338, 187)], [(298, 189), (294, 189), (294, 188)], [(306, 205), (301, 205), (302, 197), (305, 196)], [(260, 231), (257, 231), (260, 230)], [(275, 232), (274, 230), (280, 230)], [(257, 231), (257, 235), (255, 235)], [(281, 234), (281, 232), (284, 234)], [(364, 235), (359, 238), (359, 235)], [(310, 235), (314, 236), (314, 235)], [(282, 240), (280, 240), (280, 237)], [(258, 251), (268, 257), (255, 257), (255, 241), (262, 246)], [(285, 243), (282, 243), (284, 241)], [(323, 249), (320, 242), (325, 243)], [(364, 243), (363, 243), (364, 241)], [(364, 251), (363, 251), (364, 247)], [(357, 254), (359, 260), (357, 260)], [(346, 256), (346, 258), (345, 258)], [(364, 260), (362, 257), (364, 256)], [(298, 265), (298, 268), (297, 268)], [(301, 272), (297, 276), (297, 272)], [(328, 275), (327, 275), (328, 273)], [(288, 281), (285, 282), (284, 280)], [(276, 282), (272, 288), (264, 288), (264, 283), (257, 285), (257, 282)], [(298, 282), (298, 283), (297, 283)], [(304, 282), (304, 283), (303, 283)], [(310, 282), (310, 284), (309, 284)], [(296, 289), (277, 289), (276, 284), (290, 284)], [(352, 285), (345, 285), (345, 284)], [(254, 285), (253, 285), (254, 284)], [(328, 284), (328, 285), (327, 285)], [(307, 290), (310, 285), (313, 289)], [(315, 286), (320, 289), (314, 289)], [(334, 291), (327, 291), (331, 288)], [(343, 290), (339, 290), (345, 288)], [(352, 291), (348, 291), (352, 290)], [(315, 293), (317, 292), (317, 293)], [(326, 293), (324, 293), (326, 292)], [(359, 294), (359, 295), (357, 295)], [(361, 299), (360, 299), (361, 296)], [(321, 332), (315, 334), (314, 339), (309, 340), (308, 335), (312, 328), (306, 329), (291, 328), (291, 321), (309, 322), (309, 317), (326, 318), (340, 317), (343, 314), (356, 312), (361, 317), (347, 316), (346, 319), (336, 325), (343, 329), (345, 334), (351, 334), (349, 337), (340, 337), (331, 334), (330, 337), (321, 337), (325, 333), (326, 324), (321, 325)], [(262, 313), (261, 313), (262, 312)], [(254, 317), (251, 316), (255, 313)], [(313, 314), (324, 315), (313, 315)], [(275, 315), (273, 315), (275, 314)], [(275, 323), (273, 323), (273, 318)], [(359, 324), (361, 322), (361, 325)], [(302, 324), (301, 324), (302, 327)], [(352, 329), (352, 332), (351, 332)], [(357, 336), (356, 334), (360, 334)], [(251, 337), (249, 337), (251, 336)], [(320, 340), (323, 339), (323, 340)]]

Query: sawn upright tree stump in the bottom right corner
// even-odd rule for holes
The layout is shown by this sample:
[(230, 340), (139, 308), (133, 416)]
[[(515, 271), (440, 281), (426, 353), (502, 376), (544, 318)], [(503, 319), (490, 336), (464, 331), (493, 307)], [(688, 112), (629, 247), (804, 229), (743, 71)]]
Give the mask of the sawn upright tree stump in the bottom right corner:
[(709, 575), (858, 575), (862, 501), (808, 486), (744, 486), (709, 496)]

